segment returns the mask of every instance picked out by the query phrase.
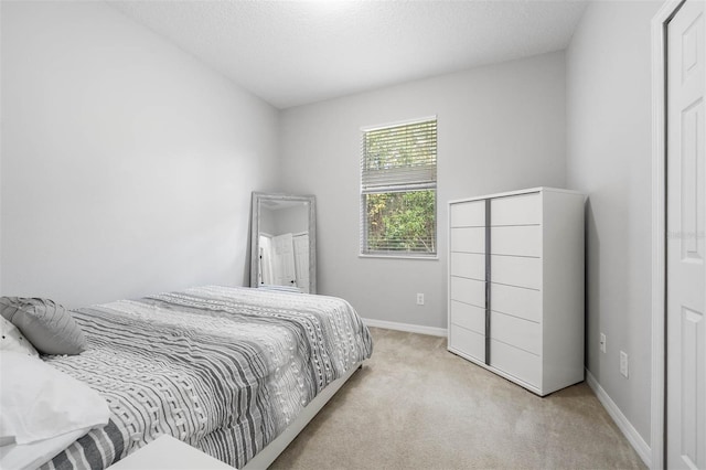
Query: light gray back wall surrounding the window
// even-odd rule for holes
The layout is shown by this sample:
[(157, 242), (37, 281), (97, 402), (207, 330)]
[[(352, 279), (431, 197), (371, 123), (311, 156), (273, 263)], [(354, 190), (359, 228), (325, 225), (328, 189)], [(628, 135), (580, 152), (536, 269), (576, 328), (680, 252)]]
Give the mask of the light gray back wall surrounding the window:
[[(561, 52), (281, 114), (284, 191), (317, 196), (318, 290), (376, 320), (447, 324), (447, 202), (565, 184)], [(438, 260), (359, 257), (361, 127), (438, 116)], [(426, 305), (416, 305), (416, 292)]]

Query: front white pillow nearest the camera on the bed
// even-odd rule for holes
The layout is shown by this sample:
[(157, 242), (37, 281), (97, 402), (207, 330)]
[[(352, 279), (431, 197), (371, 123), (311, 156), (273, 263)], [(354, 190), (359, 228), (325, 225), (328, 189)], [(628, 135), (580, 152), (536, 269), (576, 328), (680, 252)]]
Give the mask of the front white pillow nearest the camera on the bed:
[(108, 424), (105, 398), (83, 382), (14, 351), (2, 351), (0, 363), (1, 441), (25, 445)]

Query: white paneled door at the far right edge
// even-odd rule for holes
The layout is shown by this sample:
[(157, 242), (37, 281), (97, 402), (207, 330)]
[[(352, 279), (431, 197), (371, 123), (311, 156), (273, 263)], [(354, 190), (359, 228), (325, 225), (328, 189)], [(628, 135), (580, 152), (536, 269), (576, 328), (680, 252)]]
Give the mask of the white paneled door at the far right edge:
[(667, 25), (666, 466), (706, 468), (704, 2)]

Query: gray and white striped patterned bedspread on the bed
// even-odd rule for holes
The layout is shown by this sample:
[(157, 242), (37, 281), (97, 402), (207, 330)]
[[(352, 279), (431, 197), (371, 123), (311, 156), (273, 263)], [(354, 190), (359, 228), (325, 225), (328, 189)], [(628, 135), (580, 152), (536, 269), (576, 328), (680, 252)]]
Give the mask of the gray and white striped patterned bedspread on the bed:
[(324, 296), (201, 287), (73, 314), (88, 350), (45, 359), (111, 418), (43, 469), (103, 469), (162, 434), (243, 467), (373, 350), (353, 308)]

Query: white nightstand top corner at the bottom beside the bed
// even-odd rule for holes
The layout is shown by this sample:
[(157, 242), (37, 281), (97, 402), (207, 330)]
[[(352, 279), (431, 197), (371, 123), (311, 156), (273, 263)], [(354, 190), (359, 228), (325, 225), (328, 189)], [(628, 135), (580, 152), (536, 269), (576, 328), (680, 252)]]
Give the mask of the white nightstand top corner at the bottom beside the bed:
[(120, 460), (110, 470), (233, 470), (201, 450), (163, 435)]

